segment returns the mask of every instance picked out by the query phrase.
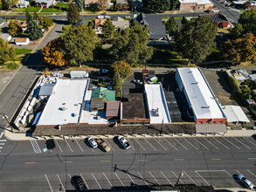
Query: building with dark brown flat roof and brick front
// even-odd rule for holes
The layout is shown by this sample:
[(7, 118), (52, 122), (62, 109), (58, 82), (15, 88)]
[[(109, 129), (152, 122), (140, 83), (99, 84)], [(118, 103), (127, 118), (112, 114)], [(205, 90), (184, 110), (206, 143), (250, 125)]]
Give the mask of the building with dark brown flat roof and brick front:
[(143, 93), (129, 93), (121, 103), (121, 124), (149, 124)]

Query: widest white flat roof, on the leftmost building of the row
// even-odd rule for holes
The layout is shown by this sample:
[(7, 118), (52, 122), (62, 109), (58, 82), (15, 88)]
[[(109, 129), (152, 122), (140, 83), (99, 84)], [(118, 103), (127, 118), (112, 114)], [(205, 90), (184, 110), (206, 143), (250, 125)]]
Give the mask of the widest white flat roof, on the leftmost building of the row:
[[(89, 79), (59, 79), (38, 121), (43, 125), (78, 123)], [(64, 105), (65, 104), (65, 105)], [(65, 106), (66, 110), (61, 108)], [(75, 115), (74, 115), (75, 114)]]

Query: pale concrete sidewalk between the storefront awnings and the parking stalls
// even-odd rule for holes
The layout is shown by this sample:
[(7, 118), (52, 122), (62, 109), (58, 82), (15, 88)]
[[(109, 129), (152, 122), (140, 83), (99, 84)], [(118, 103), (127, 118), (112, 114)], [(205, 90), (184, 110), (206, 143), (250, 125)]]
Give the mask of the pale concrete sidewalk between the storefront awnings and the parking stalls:
[[(127, 137), (136, 137), (136, 138), (154, 138), (154, 137), (176, 137), (176, 138), (181, 138), (181, 137), (252, 137), (253, 134), (256, 134), (256, 130), (227, 130), (227, 133), (223, 134), (163, 134), (163, 135), (149, 135), (149, 134), (132, 134), (132, 135), (126, 135)], [(45, 139), (50, 139), (49, 136), (42, 136), (42, 137), (31, 137), (30, 135), (26, 134), (14, 134), (9, 130), (4, 131), (4, 135), (8, 140), (11, 141), (28, 141), (28, 140), (45, 140)], [(88, 135), (80, 135), (80, 136), (64, 136), (64, 139), (70, 139), (70, 138), (76, 138), (76, 139), (85, 139)], [(95, 135), (95, 136), (100, 136), (103, 138), (113, 138), (115, 135)], [(62, 140), (63, 138), (60, 136), (54, 136), (53, 139), (56, 140)]]

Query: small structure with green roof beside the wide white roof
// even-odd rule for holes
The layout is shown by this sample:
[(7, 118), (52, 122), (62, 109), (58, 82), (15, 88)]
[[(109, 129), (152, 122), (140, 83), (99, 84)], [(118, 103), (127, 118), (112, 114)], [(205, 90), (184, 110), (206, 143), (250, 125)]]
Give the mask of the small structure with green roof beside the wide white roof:
[(93, 89), (91, 98), (104, 98), (107, 101), (114, 101), (115, 91), (99, 86), (98, 88)]

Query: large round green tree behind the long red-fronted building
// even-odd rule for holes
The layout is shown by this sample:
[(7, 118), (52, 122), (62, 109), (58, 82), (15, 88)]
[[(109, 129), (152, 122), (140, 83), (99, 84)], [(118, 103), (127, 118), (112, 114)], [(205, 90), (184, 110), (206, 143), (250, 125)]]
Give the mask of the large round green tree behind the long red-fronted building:
[(193, 18), (175, 33), (176, 49), (184, 58), (189, 58), (188, 65), (190, 61), (202, 62), (215, 47), (216, 32), (217, 27), (211, 22), (210, 17)]

